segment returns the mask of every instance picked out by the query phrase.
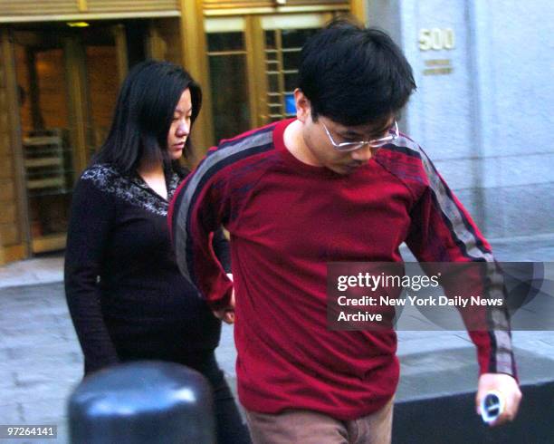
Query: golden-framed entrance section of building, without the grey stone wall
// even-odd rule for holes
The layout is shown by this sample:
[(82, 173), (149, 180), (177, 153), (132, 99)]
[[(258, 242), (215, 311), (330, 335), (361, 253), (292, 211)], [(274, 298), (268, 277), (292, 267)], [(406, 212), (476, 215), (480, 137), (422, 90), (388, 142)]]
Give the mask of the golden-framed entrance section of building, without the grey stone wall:
[(60, 250), (72, 187), (147, 58), (202, 84), (192, 163), (215, 140), (290, 115), (301, 45), (362, 1), (0, 0), (0, 264)]

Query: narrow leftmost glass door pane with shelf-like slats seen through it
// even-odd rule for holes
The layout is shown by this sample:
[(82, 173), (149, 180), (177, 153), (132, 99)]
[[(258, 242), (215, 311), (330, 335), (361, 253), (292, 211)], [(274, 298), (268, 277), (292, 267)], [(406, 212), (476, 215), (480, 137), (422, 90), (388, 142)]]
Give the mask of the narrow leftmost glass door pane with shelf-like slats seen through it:
[(62, 43), (40, 32), (16, 32), (14, 52), (31, 250), (65, 243), (73, 185), (70, 112)]

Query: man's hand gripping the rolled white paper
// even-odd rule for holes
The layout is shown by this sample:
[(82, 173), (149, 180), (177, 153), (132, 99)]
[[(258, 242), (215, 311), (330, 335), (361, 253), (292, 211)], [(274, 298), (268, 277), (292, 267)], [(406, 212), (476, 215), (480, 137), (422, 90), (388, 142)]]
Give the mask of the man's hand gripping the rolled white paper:
[(504, 409), (501, 415), (491, 422), (490, 426), (499, 426), (513, 420), (518, 414), (521, 401), (521, 391), (518, 383), (509, 374), (505, 373), (483, 373), (479, 378), (475, 406), (477, 414), (481, 414), (481, 400), (488, 391), (498, 391), (504, 401)]

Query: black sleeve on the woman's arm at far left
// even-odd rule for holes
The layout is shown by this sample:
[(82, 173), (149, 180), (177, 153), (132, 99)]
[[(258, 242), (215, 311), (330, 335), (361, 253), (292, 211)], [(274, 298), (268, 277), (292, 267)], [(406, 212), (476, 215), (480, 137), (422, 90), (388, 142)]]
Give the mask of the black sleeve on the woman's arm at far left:
[(100, 307), (100, 267), (113, 226), (114, 202), (90, 179), (73, 191), (65, 250), (68, 308), (85, 358), (85, 372), (119, 362)]

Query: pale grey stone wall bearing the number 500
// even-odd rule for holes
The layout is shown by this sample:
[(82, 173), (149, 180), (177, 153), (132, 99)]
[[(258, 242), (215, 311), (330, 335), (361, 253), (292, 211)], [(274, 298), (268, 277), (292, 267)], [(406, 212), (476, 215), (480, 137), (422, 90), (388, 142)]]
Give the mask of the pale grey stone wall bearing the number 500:
[(554, 234), (554, 3), (369, 0), (417, 91), (403, 127), (490, 238)]

